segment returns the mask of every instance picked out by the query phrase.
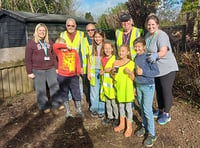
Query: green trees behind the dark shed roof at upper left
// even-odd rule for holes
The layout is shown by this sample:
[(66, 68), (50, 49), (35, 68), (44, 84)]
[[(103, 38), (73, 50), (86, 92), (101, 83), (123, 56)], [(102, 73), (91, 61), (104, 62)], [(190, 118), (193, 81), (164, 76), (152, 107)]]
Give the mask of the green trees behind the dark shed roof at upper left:
[(74, 15), (76, 10), (74, 9), (76, 0), (1, 0), (0, 2), (2, 8), (13, 11)]

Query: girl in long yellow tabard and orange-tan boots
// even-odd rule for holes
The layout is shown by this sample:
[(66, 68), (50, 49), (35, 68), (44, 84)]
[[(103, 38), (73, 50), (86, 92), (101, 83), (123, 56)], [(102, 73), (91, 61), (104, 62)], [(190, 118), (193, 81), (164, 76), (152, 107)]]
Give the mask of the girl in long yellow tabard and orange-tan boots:
[(115, 132), (125, 129), (125, 137), (132, 134), (132, 102), (135, 99), (133, 80), (135, 64), (131, 61), (130, 48), (127, 45), (121, 45), (118, 52), (119, 60), (114, 63), (115, 87), (117, 90), (117, 100), (119, 102), (120, 124), (114, 128)]

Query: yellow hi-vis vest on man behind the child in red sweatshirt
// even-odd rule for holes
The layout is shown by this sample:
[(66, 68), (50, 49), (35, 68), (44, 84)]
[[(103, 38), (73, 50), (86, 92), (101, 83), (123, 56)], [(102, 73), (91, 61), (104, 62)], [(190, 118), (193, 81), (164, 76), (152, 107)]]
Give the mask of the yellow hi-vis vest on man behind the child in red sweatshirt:
[(67, 31), (61, 32), (60, 37), (65, 39), (67, 46), (71, 46), (72, 49), (76, 49), (76, 51), (79, 53), (79, 48), (81, 47), (84, 32), (77, 30), (73, 42), (68, 37)]

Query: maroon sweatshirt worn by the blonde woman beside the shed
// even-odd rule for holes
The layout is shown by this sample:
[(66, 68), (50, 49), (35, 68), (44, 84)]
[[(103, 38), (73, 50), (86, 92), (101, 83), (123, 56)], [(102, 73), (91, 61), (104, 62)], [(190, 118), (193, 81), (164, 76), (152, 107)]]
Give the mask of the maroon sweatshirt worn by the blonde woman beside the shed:
[[(42, 44), (43, 41), (42, 41)], [(37, 70), (47, 70), (50, 68), (58, 67), (56, 60), (56, 54), (53, 51), (53, 42), (49, 40), (49, 43), (46, 43), (47, 46), (47, 57), (49, 60), (45, 60), (45, 52), (40, 43), (35, 43), (33, 39), (29, 40), (26, 45), (25, 51), (25, 62), (26, 62), (26, 71), (28, 74), (33, 73), (33, 69)]]

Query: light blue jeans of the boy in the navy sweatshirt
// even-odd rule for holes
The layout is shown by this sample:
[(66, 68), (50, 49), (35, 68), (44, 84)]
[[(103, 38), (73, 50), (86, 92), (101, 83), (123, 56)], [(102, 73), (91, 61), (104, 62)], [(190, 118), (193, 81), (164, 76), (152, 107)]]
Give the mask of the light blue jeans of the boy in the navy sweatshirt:
[(149, 134), (155, 136), (155, 125), (153, 117), (153, 97), (155, 92), (155, 84), (136, 85), (137, 100), (141, 109), (142, 126), (148, 130)]

